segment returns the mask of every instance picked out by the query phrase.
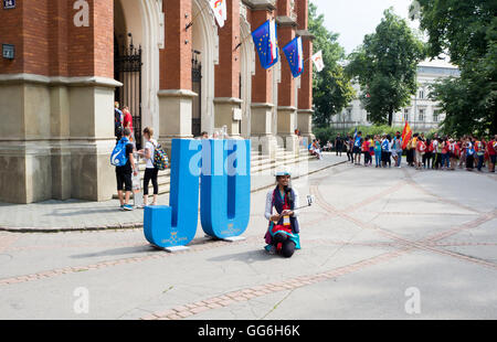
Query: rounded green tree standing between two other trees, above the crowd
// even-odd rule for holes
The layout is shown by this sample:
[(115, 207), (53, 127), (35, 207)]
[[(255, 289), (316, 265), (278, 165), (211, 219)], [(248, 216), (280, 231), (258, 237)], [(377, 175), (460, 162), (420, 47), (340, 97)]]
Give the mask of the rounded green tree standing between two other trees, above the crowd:
[(385, 10), (376, 32), (364, 36), (347, 66), (347, 74), (356, 76), (361, 86), (359, 98), (372, 122), (391, 126), (393, 114), (410, 104), (423, 57), (423, 42), (406, 21), (392, 9)]

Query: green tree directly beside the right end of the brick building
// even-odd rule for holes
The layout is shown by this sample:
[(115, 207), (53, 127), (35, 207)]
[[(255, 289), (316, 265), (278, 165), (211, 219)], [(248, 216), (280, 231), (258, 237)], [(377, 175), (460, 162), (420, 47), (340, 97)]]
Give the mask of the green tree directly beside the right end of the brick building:
[(314, 124), (329, 127), (331, 116), (340, 113), (355, 97), (350, 77), (345, 74), (340, 62), (345, 60), (345, 50), (337, 42), (338, 34), (325, 26), (325, 17), (317, 15), (317, 7), (309, 3), (309, 32), (315, 36), (314, 51), (322, 51), (325, 68), (314, 73), (313, 104)]

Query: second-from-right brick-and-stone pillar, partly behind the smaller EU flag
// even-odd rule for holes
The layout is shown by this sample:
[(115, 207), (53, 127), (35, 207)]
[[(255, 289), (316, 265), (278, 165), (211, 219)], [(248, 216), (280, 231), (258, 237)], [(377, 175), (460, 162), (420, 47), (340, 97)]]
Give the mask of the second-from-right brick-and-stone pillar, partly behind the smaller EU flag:
[[(297, 23), (290, 0), (278, 0), (278, 41), (283, 49), (296, 36)], [(298, 153), (297, 107), (295, 98), (296, 82), (284, 52), (281, 50), (282, 82), (278, 86), (278, 137), (285, 141), (287, 151)]]

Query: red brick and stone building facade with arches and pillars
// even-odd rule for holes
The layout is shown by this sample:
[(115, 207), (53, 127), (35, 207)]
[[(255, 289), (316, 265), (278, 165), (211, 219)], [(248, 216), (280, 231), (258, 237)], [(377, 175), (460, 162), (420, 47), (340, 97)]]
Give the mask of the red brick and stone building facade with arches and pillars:
[[(6, 3), (6, 1), (3, 1)], [(137, 142), (155, 128), (170, 147), (224, 127), (272, 156), (311, 135), (310, 60), (260, 66), (251, 32), (268, 19), (284, 46), (307, 31), (308, 0), (230, 0), (220, 28), (208, 0), (17, 0), (0, 9), (0, 201), (109, 200), (114, 101)]]

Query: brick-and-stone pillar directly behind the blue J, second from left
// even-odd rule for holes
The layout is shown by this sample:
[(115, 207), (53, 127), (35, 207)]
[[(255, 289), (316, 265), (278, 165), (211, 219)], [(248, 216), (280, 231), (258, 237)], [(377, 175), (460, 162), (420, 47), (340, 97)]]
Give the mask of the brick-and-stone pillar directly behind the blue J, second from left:
[(170, 151), (173, 138), (192, 138), (192, 3), (162, 1), (166, 46), (160, 50), (159, 141)]

